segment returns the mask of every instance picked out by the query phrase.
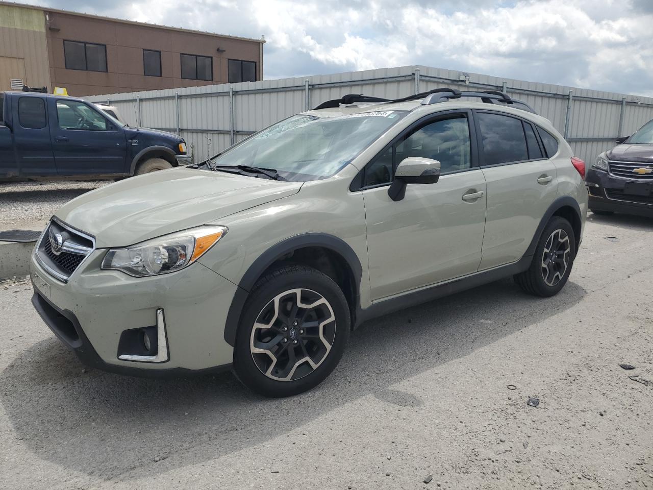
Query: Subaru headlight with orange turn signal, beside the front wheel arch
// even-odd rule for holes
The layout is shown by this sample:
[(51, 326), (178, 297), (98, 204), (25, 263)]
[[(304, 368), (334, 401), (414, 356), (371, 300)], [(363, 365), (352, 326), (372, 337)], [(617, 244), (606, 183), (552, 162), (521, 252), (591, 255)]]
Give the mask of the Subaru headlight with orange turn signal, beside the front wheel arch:
[(136, 277), (175, 272), (199, 259), (226, 233), (223, 226), (200, 226), (127, 248), (112, 248), (104, 256), (102, 269)]

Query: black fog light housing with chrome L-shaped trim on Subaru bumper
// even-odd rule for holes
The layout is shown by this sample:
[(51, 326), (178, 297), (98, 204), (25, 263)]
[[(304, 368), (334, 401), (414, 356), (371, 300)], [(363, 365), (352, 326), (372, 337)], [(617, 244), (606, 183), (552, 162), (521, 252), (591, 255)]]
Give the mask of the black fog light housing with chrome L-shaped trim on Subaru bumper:
[(118, 342), (118, 359), (140, 363), (165, 363), (168, 355), (168, 340), (163, 308), (156, 314), (157, 324), (123, 331)]

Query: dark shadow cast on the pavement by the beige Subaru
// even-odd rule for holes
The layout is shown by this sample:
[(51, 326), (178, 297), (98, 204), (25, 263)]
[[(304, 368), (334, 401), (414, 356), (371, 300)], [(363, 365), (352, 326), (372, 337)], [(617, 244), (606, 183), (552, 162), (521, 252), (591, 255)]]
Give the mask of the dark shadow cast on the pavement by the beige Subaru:
[[(569, 282), (556, 297), (534, 298), (503, 280), (369, 321), (323, 384), (289, 399), (263, 399), (231, 373), (151, 380), (89, 370), (54, 337), (0, 373), (0, 393), (16, 437), (40, 459), (95, 478), (125, 478), (135, 468), (146, 477), (265, 443), (361, 397), (419, 406), (419, 395), (393, 385), (427, 370), (437, 385), (440, 365), (584, 295)], [(153, 462), (168, 456), (165, 465)]]

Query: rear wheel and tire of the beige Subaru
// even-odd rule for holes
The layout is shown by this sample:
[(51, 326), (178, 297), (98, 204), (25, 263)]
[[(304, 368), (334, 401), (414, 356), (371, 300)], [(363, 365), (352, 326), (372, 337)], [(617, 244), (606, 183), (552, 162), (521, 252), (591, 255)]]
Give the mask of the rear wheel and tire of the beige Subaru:
[(528, 294), (553, 296), (567, 283), (575, 257), (576, 242), (571, 224), (560, 216), (553, 216), (539, 238), (530, 267), (516, 274), (515, 282)]

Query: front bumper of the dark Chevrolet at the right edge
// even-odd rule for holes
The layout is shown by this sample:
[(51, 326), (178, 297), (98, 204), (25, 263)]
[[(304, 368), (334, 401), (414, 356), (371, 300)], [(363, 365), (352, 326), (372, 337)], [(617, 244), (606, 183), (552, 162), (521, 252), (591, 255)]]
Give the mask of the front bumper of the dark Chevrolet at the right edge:
[(608, 172), (590, 169), (585, 178), (589, 193), (588, 208), (653, 218), (653, 196), (635, 196), (624, 193), (626, 182), (631, 181), (615, 177)]

